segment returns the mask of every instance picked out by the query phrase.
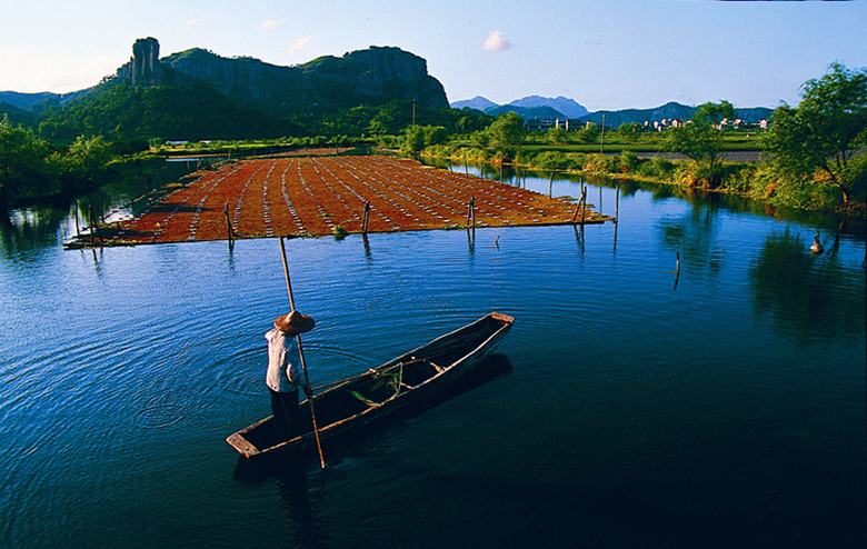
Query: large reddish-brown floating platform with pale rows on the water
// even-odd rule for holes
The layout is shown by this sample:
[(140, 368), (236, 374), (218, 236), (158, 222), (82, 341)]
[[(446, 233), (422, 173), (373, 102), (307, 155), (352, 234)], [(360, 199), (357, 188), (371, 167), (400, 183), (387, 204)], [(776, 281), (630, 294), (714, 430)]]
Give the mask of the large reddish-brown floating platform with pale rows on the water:
[[(67, 247), (601, 223), (587, 204), (383, 156), (245, 160), (198, 173), (139, 217)], [(369, 204), (369, 206), (368, 206)]]

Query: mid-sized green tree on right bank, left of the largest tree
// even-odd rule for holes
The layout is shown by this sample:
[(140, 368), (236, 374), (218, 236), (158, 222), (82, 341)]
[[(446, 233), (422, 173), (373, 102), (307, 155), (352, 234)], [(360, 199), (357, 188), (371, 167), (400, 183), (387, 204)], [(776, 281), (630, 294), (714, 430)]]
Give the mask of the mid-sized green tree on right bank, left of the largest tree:
[(719, 124), (734, 116), (735, 109), (728, 101), (708, 102), (696, 109), (687, 123), (668, 130), (668, 150), (694, 160), (698, 173), (711, 189), (719, 183), (717, 171), (722, 158), (722, 130)]

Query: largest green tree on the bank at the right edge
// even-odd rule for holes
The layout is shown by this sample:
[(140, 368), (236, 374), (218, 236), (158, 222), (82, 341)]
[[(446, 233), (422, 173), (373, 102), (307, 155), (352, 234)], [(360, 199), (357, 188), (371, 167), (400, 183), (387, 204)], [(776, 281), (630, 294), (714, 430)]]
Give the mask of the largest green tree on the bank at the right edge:
[(821, 78), (807, 80), (798, 107), (778, 107), (765, 140), (783, 173), (813, 179), (818, 173), (843, 192), (844, 203), (864, 192), (867, 146), (867, 70), (831, 63)]

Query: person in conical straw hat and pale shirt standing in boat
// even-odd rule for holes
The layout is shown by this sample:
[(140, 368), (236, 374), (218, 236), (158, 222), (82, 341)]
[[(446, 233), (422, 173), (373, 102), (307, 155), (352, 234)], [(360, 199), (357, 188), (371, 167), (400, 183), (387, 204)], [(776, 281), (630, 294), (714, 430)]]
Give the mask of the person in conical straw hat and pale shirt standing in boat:
[(292, 311), (277, 317), (273, 329), (265, 335), (268, 340), (268, 373), (266, 385), (271, 393), (273, 426), (278, 435), (288, 438), (298, 416), (298, 388), (309, 398), (312, 391), (305, 383), (300, 368), (297, 336), (316, 326), (312, 318)]

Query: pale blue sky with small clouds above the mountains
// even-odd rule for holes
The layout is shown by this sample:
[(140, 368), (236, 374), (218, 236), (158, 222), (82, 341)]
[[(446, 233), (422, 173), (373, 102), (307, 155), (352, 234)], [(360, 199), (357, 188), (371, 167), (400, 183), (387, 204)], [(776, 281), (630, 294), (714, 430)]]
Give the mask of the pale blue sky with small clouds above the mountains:
[(0, 90), (93, 86), (150, 36), (163, 57), (201, 47), (281, 66), (397, 46), (450, 101), (773, 108), (833, 61), (867, 67), (865, 29), (866, 0), (3, 0)]

